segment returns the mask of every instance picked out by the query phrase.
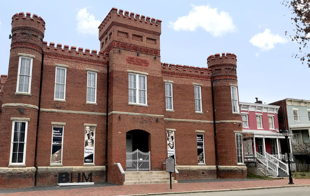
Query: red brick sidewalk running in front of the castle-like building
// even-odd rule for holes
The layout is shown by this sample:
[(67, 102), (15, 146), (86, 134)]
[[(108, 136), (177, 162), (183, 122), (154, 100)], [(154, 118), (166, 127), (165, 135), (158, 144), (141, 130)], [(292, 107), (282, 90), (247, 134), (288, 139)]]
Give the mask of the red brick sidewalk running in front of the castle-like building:
[[(147, 185), (121, 185), (121, 186), (105, 186), (92, 188), (62, 189), (62, 190), (44, 190), (44, 191), (28, 191), (18, 193), (5, 193), (5, 195), (92, 195), (92, 196), (113, 196), (113, 195), (132, 195), (146, 193), (167, 193), (167, 192), (183, 192), (197, 190), (220, 190), (220, 189), (238, 189), (251, 187), (273, 187), (285, 186), (288, 179), (281, 180), (261, 180), (261, 181), (225, 181), (225, 182), (200, 182), (200, 183), (176, 183), (172, 184), (147, 184)], [(309, 185), (310, 179), (294, 179), (294, 185)], [(4, 195), (4, 194), (0, 194)]]

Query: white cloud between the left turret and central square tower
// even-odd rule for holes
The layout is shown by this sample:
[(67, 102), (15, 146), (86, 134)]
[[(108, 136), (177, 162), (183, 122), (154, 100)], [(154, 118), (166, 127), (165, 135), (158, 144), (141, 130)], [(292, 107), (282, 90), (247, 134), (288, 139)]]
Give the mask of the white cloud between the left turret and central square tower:
[(85, 7), (78, 11), (75, 18), (78, 21), (76, 30), (81, 34), (96, 35), (101, 22), (96, 20), (94, 15), (88, 13), (87, 8)]

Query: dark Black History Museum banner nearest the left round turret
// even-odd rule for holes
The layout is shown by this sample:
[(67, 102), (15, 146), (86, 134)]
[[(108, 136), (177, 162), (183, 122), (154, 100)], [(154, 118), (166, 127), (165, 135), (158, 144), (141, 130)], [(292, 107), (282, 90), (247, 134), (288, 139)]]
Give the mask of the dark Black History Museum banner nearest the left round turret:
[(61, 164), (62, 162), (62, 142), (64, 126), (53, 125), (51, 164)]

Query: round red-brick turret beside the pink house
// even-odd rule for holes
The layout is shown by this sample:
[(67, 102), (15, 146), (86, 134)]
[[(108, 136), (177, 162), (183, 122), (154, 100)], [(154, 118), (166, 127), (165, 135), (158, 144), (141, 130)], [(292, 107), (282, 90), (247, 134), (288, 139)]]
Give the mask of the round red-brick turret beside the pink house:
[[(235, 133), (242, 132), (239, 104), (237, 111), (232, 109), (231, 88), (238, 86), (236, 58), (237, 56), (231, 53), (226, 53), (226, 55), (222, 53), (222, 56), (220, 54), (210, 55), (207, 58), (208, 68), (212, 69), (213, 76), (218, 165), (223, 167), (219, 169), (219, 177), (228, 177), (229, 173), (233, 176), (234, 173), (241, 172), (236, 168), (230, 168), (240, 165), (237, 164)], [(244, 168), (241, 170), (246, 177)], [(224, 169), (226, 171), (223, 171)]]

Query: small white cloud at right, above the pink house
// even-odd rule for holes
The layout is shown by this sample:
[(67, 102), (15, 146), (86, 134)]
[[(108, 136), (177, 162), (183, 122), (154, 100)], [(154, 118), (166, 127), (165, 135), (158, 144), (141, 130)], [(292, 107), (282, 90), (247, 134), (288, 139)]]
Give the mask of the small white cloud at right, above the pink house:
[(270, 32), (270, 29), (266, 28), (265, 32), (257, 33), (250, 40), (250, 43), (254, 46), (259, 47), (262, 50), (270, 50), (274, 48), (274, 45), (277, 43), (285, 44), (287, 40)]

